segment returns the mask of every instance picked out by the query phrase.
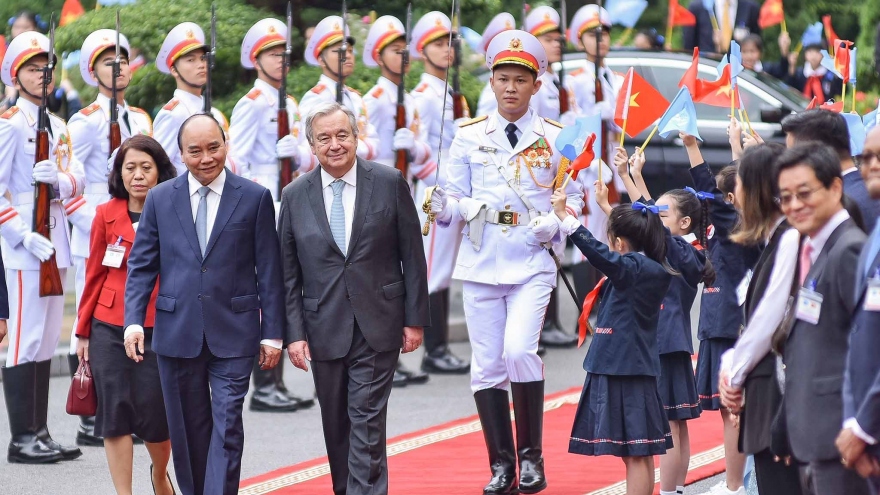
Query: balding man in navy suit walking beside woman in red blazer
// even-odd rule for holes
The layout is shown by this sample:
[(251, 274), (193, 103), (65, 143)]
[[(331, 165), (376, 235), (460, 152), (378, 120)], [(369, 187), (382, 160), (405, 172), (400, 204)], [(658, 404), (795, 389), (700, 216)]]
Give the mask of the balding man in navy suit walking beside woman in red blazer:
[(269, 190), (232, 174), (223, 130), (197, 114), (180, 127), (188, 173), (150, 190), (128, 260), (125, 349), (143, 357), (159, 278), (153, 350), (177, 483), (185, 495), (238, 493), (241, 411), (254, 356), (281, 356), (284, 302)]

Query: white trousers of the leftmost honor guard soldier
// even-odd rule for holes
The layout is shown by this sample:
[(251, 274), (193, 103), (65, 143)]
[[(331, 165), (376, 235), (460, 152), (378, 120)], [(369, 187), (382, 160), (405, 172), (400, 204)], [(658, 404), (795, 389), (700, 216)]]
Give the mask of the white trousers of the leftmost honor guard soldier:
[[(67, 269), (61, 268), (61, 279)], [(6, 366), (46, 361), (61, 338), (64, 296), (40, 297), (39, 270), (6, 270), (9, 349)]]

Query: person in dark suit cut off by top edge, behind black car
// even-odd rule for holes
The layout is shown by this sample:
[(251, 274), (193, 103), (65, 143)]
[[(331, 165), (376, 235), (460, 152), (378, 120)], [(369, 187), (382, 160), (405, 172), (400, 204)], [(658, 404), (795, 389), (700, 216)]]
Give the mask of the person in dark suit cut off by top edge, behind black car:
[[(714, 3), (715, 8), (710, 11), (703, 0), (691, 0), (688, 10), (694, 14), (697, 23), (683, 28), (685, 50), (692, 51), (698, 46), (703, 53), (724, 53), (730, 47), (731, 39), (742, 41), (749, 34), (761, 34), (758, 26), (761, 8), (754, 1), (715, 0)], [(718, 23), (717, 31), (712, 23), (713, 16)]]

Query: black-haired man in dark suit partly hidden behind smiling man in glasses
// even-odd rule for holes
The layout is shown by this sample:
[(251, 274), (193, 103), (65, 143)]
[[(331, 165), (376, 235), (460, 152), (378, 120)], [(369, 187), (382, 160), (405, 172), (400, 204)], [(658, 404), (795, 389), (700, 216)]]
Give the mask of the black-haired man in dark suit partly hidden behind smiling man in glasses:
[(840, 160), (839, 174), (843, 177), (843, 192), (858, 205), (865, 222), (865, 231), (871, 232), (880, 216), (880, 200), (868, 194), (865, 181), (853, 161), (846, 120), (836, 112), (808, 110), (785, 117), (782, 120), (782, 131), (788, 147), (802, 141), (818, 141), (837, 152)]

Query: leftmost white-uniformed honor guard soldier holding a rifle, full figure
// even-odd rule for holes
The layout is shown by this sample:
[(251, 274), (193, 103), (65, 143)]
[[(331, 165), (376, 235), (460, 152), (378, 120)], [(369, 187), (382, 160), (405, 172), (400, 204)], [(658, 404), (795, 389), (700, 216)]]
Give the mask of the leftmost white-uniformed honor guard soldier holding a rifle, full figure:
[[(35, 31), (12, 40), (0, 65), (3, 84), (19, 94), (17, 105), (0, 115), (0, 246), (6, 267), (10, 318), (3, 391), (9, 414), (9, 462), (46, 463), (75, 459), (82, 452), (49, 435), (49, 371), (61, 336), (64, 296), (40, 297), (40, 262), (54, 253), (61, 280), (71, 264), (67, 214), (61, 201), (82, 194), (82, 164), (73, 157), (67, 125), (40, 118), (49, 39)], [(45, 91), (52, 91), (52, 82)], [(39, 121), (48, 121), (49, 159), (36, 162)], [(106, 163), (106, 162), (105, 162)], [(50, 238), (32, 230), (34, 182), (54, 190), (49, 206)]]

